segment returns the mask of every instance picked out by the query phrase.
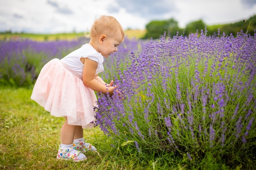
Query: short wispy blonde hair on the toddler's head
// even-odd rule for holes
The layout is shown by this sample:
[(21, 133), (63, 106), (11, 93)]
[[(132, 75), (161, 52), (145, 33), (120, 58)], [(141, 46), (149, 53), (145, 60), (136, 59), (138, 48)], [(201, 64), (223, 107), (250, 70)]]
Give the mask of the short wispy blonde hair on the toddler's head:
[(95, 20), (92, 24), (90, 34), (84, 33), (86, 38), (97, 38), (100, 35), (113, 35), (117, 31), (121, 31), (124, 38), (124, 29), (116, 18), (112, 16), (102, 15), (99, 19)]

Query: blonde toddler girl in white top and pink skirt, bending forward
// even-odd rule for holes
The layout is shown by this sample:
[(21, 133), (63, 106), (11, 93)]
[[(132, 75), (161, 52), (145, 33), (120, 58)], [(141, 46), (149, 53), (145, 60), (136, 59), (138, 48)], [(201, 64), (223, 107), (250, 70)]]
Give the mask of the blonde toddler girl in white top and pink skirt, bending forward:
[(116, 86), (107, 84), (98, 74), (103, 71), (103, 57), (117, 51), (124, 40), (121, 24), (112, 16), (101, 16), (94, 21), (90, 42), (61, 60), (49, 61), (40, 71), (31, 99), (51, 115), (65, 117), (61, 128), (58, 159), (83, 161), (85, 151), (97, 149), (83, 139), (83, 128), (94, 126), (94, 91), (113, 95)]

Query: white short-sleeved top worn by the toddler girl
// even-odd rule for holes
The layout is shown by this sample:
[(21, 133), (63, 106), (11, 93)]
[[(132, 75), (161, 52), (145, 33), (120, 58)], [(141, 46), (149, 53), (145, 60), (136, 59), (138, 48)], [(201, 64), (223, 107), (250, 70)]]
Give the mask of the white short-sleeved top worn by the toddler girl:
[(104, 57), (89, 44), (82, 45), (79, 49), (71, 52), (70, 54), (62, 58), (61, 61), (65, 62), (68, 66), (70, 66), (70, 69), (83, 76), (84, 64), (80, 60), (81, 57), (89, 58), (90, 60), (98, 63), (95, 75), (104, 71)]

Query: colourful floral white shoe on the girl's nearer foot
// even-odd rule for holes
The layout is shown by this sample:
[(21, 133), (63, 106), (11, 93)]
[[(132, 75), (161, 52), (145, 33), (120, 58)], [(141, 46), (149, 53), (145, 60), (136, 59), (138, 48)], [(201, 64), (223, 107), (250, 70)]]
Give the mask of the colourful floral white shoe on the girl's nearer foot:
[[(71, 154), (70, 151), (74, 150), (75, 153)], [(73, 151), (73, 152), (74, 152)], [(85, 155), (83, 155), (82, 159), (79, 159), (79, 154), (83, 153), (79, 150), (75, 150), (74, 146), (65, 148), (65, 150), (63, 148), (61, 148), (61, 145), (58, 147), (58, 155), (57, 155), (57, 159), (73, 159), (73, 161), (75, 162), (79, 162), (79, 161), (85, 161), (87, 159), (87, 157)]]

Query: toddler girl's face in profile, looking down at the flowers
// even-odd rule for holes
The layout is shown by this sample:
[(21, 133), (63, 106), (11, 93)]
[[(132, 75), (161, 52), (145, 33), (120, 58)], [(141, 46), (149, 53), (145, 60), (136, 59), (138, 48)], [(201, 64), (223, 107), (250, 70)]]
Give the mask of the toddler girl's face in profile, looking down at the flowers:
[(101, 35), (99, 53), (108, 58), (109, 55), (117, 51), (117, 46), (123, 42), (123, 39), (120, 31), (117, 31), (112, 36)]

